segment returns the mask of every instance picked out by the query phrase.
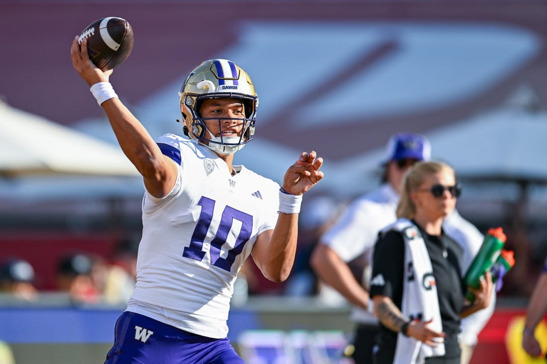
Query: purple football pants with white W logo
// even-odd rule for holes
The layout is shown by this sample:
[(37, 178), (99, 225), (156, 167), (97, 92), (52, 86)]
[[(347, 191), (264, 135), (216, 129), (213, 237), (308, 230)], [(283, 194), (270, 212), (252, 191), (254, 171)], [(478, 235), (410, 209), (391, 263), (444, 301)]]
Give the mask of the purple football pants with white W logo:
[(243, 364), (228, 338), (196, 335), (133, 312), (116, 322), (104, 364)]

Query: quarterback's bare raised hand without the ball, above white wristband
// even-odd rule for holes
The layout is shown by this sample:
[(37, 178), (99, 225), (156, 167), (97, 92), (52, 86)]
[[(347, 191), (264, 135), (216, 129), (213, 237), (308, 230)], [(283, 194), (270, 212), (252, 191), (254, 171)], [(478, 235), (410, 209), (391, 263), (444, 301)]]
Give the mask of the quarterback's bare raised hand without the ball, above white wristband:
[(287, 169), (283, 177), (283, 189), (292, 195), (302, 195), (315, 186), (322, 178), (319, 168), (323, 158), (317, 157), (315, 151), (303, 152), (294, 165)]

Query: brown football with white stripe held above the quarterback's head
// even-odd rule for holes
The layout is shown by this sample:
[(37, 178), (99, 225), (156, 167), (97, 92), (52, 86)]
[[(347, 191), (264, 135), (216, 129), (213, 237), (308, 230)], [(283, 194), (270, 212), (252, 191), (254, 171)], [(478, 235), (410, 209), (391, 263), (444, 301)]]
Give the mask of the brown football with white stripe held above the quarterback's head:
[(133, 29), (121, 17), (103, 17), (88, 25), (80, 37), (88, 39), (91, 61), (102, 71), (113, 69), (124, 62), (133, 49)]

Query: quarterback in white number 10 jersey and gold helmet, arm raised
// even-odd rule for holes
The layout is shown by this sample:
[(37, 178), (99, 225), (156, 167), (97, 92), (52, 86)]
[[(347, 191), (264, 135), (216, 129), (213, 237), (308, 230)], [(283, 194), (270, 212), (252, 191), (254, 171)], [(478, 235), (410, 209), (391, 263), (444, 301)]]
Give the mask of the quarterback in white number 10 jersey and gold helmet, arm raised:
[(323, 160), (302, 152), (281, 187), (232, 164), (253, 138), (258, 97), (249, 75), (228, 60), (201, 63), (182, 85), (188, 138), (153, 140), (85, 42), (80, 50), (74, 39), (73, 66), (146, 189), (137, 283), (106, 363), (243, 363), (226, 337), (236, 274), (252, 255), (267, 279), (287, 279), (302, 194), (323, 178)]

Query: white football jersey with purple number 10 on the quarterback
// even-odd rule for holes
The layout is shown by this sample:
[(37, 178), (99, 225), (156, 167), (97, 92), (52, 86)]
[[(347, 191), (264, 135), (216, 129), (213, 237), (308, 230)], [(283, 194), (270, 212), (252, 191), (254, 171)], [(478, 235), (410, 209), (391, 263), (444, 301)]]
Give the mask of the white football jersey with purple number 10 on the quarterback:
[(280, 186), (174, 134), (158, 140), (179, 165), (164, 198), (143, 198), (137, 283), (127, 310), (212, 338), (228, 334), (237, 272), (277, 222)]

